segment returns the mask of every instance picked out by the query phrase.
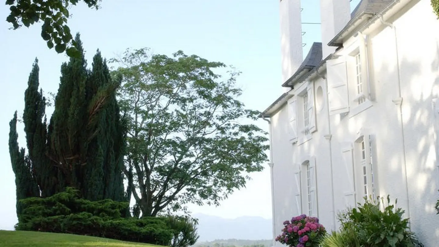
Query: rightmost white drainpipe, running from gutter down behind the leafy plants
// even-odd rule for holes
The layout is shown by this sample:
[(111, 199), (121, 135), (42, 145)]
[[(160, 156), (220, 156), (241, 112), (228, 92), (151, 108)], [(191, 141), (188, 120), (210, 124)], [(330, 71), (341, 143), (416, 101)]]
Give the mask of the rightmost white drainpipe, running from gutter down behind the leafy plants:
[[(406, 159), (406, 144), (405, 144), (405, 135), (404, 135), (404, 123), (403, 123), (403, 98), (401, 93), (401, 71), (399, 69), (399, 55), (398, 55), (398, 39), (396, 35), (396, 27), (392, 23), (385, 22), (383, 19), (383, 16), (380, 15), (380, 21), (382, 24), (390, 27), (393, 30), (393, 33), (395, 35), (395, 49), (396, 49), (396, 69), (398, 71), (397, 77), (398, 77), (398, 83), (397, 85), (397, 92), (398, 92), (398, 98), (392, 100), (393, 103), (398, 105), (399, 109), (399, 120), (401, 124), (401, 135), (402, 135), (402, 145), (403, 145), (403, 166), (404, 166), (404, 173), (405, 173), (405, 179), (406, 179), (406, 194), (407, 194), (407, 218), (410, 218), (410, 203), (409, 203), (409, 189), (408, 189), (408, 179), (407, 179), (407, 159)], [(409, 221), (409, 227), (410, 227), (410, 221)]]

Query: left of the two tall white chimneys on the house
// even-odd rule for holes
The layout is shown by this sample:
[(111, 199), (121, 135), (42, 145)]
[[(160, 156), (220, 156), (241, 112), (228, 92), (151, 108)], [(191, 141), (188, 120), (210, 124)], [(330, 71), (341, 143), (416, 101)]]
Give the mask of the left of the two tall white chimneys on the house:
[[(299, 69), (303, 61), (300, 0), (281, 0), (280, 12), (282, 83), (284, 83)], [(288, 91), (288, 88), (285, 87), (285, 91)]]

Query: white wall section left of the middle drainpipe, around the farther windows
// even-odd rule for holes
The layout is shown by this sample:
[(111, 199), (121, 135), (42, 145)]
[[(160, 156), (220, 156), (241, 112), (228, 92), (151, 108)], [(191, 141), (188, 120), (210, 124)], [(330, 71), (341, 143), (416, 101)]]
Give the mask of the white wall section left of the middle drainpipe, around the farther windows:
[[(329, 133), (326, 81), (315, 78), (314, 94), (319, 87), (323, 91), (321, 104), (316, 105), (317, 131), (306, 142), (291, 144), (288, 134), (288, 107), (284, 105), (274, 116), (271, 117), (271, 138), (273, 144), (273, 186), (274, 186), (274, 211), (273, 218), (275, 235), (281, 233), (282, 222), (302, 213), (295, 201), (295, 194), (299, 188), (295, 185), (294, 172), (300, 165), (309, 159), (316, 160), (318, 217), (328, 229), (334, 229), (334, 217), (332, 207), (332, 180), (331, 180), (331, 154), (329, 140), (324, 136)], [(300, 86), (296, 85), (296, 89)], [(293, 91), (293, 94), (296, 94)], [(296, 97), (296, 96), (294, 96)], [(298, 106), (300, 108), (300, 106)], [(274, 236), (275, 237), (275, 236)], [(280, 246), (276, 243), (276, 246)]]

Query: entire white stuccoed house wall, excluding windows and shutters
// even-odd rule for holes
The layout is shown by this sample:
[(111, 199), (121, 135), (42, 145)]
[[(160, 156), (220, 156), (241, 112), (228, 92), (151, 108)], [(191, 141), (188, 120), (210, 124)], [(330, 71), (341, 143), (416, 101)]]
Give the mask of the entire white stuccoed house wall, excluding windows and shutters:
[[(363, 131), (371, 134), (373, 140), (376, 194), (389, 194), (392, 202), (398, 198), (397, 206), (406, 210), (404, 216), (411, 218), (411, 230), (425, 247), (438, 246), (439, 216), (434, 205), (439, 199), (439, 103), (435, 103), (439, 102), (439, 32), (434, 30), (439, 30), (439, 20), (432, 13), (429, 0), (413, 0), (385, 20), (395, 26), (397, 42), (394, 30), (379, 21), (364, 33), (369, 35), (370, 108), (353, 114), (356, 105), (350, 102), (346, 116), (329, 116), (326, 80), (320, 78), (314, 79), (314, 90), (319, 85), (323, 87), (324, 105), (321, 110), (316, 109), (317, 131), (312, 139), (294, 145), (289, 142), (287, 105), (271, 118), (276, 234), (281, 232), (284, 220), (297, 214), (294, 171), (309, 157), (316, 159), (318, 217), (327, 229), (334, 229), (335, 215), (346, 206), (348, 178), (342, 150), (353, 146)], [(347, 39), (338, 54), (349, 58), (360, 38), (361, 35)], [(350, 63), (347, 69), (349, 97), (353, 97), (355, 78), (350, 72), (355, 68)], [(397, 104), (399, 81), (402, 115)], [(325, 138), (330, 135), (330, 140)], [(357, 182), (356, 202), (362, 201), (358, 185)]]

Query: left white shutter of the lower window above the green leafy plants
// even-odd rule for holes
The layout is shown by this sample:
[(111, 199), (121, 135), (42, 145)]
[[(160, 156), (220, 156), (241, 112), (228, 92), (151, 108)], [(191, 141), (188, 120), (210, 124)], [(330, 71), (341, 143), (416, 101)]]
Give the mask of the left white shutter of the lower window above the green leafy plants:
[(355, 184), (354, 184), (354, 170), (353, 170), (353, 149), (352, 145), (349, 148), (342, 149), (343, 168), (345, 170), (344, 176), (344, 201), (345, 206), (355, 207)]

